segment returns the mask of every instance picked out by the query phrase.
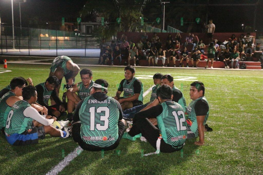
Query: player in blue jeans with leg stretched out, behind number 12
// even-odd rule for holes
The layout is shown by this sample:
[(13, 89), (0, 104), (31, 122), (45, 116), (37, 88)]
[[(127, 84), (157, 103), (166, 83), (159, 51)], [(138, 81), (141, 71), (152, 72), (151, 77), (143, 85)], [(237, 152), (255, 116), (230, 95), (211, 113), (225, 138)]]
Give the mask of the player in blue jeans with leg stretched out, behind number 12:
[(147, 105), (149, 105), (151, 102), (153, 102), (157, 98), (156, 92), (157, 92), (157, 89), (161, 85), (161, 78), (162, 78), (162, 76), (163, 75), (160, 74), (160, 73), (156, 73), (153, 76), (153, 83), (154, 83), (155, 86), (152, 88), (150, 101), (148, 103), (144, 104), (144, 105), (134, 106), (134, 107), (132, 107), (130, 109), (126, 109), (125, 111), (123, 111), (124, 119), (125, 118), (132, 119), (136, 112), (139, 112), (140, 110), (145, 108)]

